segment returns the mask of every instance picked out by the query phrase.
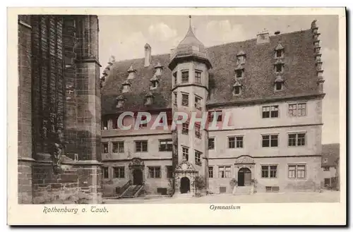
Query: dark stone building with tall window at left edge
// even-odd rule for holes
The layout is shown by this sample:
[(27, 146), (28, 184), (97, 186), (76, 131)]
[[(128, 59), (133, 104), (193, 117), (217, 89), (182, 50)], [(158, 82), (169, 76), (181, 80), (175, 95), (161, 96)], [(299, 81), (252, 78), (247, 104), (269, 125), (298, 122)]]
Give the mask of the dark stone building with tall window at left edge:
[(19, 203), (100, 201), (98, 31), (97, 16), (18, 16)]

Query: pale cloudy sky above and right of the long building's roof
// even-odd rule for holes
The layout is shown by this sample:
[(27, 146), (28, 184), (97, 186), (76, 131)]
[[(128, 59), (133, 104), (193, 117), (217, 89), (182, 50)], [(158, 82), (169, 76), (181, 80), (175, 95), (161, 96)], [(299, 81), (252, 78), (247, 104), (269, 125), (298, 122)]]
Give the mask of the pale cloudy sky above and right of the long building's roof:
[[(339, 68), (337, 16), (192, 16), (196, 37), (210, 47), (217, 44), (254, 39), (266, 29), (270, 35), (306, 30), (316, 19), (321, 33), (323, 76), (322, 142), (339, 142)], [(146, 43), (152, 55), (169, 54), (189, 29), (189, 16), (99, 16), (101, 70), (110, 56), (116, 61), (142, 58)]]

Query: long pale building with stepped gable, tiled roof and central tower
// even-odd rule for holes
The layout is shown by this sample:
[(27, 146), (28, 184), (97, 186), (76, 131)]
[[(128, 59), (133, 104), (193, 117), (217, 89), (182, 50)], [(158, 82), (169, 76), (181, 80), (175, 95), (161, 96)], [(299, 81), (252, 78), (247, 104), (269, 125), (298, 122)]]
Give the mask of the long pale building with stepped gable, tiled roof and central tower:
[[(316, 20), (308, 28), (206, 48), (190, 26), (170, 54), (146, 44), (142, 59), (112, 57), (101, 78), (104, 195), (128, 185), (193, 195), (198, 178), (208, 193), (319, 190), (325, 94)], [(121, 129), (142, 111), (150, 122)], [(168, 126), (154, 128), (161, 112)], [(207, 126), (189, 117), (174, 128), (176, 112)]]

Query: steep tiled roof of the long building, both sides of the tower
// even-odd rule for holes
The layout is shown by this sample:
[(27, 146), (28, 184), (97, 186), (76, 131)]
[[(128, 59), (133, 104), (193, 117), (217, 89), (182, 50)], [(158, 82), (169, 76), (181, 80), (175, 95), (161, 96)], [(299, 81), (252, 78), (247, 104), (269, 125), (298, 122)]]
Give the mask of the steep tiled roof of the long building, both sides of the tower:
[[(303, 30), (286, 34), (270, 36), (270, 42), (256, 44), (256, 39), (243, 42), (232, 42), (207, 48), (208, 57), (213, 68), (210, 70), (210, 99), (208, 104), (241, 102), (280, 98), (285, 96), (302, 96), (318, 94), (318, 75), (314, 58), (313, 35), (311, 30)], [(275, 48), (278, 44), (284, 48), (284, 73), (280, 76), (284, 80), (284, 90), (274, 91), (274, 82), (278, 75), (274, 64)], [(241, 80), (242, 94), (232, 94), (232, 87), (236, 80), (237, 54), (246, 54), (244, 78)], [(172, 73), (169, 70), (169, 54), (152, 56), (150, 66), (144, 66), (144, 58), (116, 61), (110, 68), (102, 88), (102, 114), (116, 114), (115, 99), (120, 94), (126, 97), (124, 108), (119, 111), (138, 111), (148, 109), (166, 109), (172, 106)], [(160, 62), (164, 66), (160, 83), (156, 90), (150, 90), (150, 79), (153, 77), (155, 66)], [(121, 93), (122, 84), (128, 77), (128, 69), (136, 70), (135, 78), (129, 80), (131, 92)], [(144, 97), (152, 92), (153, 104), (145, 106)]]

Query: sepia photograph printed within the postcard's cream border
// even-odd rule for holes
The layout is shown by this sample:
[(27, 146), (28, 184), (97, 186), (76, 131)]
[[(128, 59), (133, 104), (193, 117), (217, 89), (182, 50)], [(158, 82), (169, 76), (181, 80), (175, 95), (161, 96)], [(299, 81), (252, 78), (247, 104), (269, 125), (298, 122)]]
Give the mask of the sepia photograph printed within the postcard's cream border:
[(16, 15), (14, 204), (342, 202), (342, 15), (100, 13)]

